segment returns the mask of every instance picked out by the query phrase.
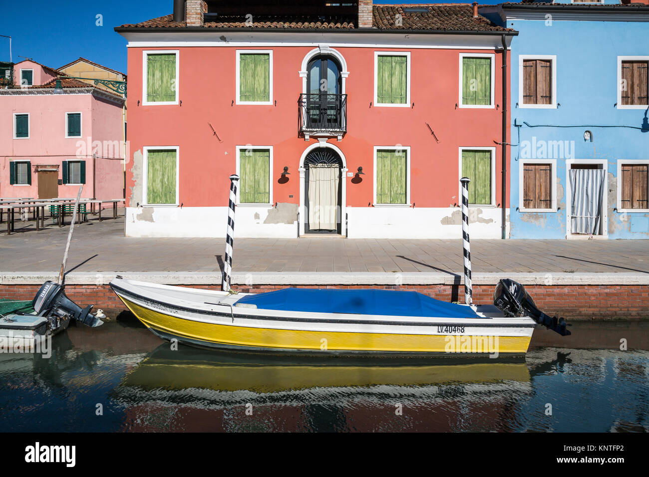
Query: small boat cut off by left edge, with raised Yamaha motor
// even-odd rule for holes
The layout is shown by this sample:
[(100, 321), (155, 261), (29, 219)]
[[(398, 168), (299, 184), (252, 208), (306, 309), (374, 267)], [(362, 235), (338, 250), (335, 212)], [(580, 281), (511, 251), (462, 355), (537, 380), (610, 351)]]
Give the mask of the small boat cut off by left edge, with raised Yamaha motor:
[(66, 330), (73, 319), (93, 328), (101, 326), (103, 315), (93, 315), (92, 308), (82, 309), (67, 298), (65, 286), (49, 281), (32, 301), (0, 302), (0, 351), (40, 352), (42, 340)]

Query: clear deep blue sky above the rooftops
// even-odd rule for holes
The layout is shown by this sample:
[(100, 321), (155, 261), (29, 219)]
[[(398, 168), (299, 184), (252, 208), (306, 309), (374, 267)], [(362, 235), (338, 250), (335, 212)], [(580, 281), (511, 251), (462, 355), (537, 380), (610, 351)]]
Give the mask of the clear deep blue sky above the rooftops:
[[(236, 0), (232, 0), (236, 1)], [(124, 23), (138, 23), (170, 14), (173, 0), (1, 0), (0, 35), (12, 37), (14, 62), (27, 56), (60, 67), (83, 56), (117, 71), (126, 71), (126, 40), (113, 31)], [(417, 3), (374, 0), (374, 3)], [(424, 3), (424, 2), (422, 2)], [(451, 3), (449, 0), (425, 3)], [(471, 3), (470, 1), (459, 3)], [(481, 4), (498, 3), (482, 0)], [(97, 26), (97, 15), (103, 26)], [(9, 60), (9, 41), (0, 37), (0, 61)]]

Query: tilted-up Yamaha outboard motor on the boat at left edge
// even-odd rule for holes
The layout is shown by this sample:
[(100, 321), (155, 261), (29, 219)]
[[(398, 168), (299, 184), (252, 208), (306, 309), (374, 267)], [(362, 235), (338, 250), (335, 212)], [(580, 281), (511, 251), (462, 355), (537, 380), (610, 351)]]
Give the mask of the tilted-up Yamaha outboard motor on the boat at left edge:
[(98, 316), (90, 313), (92, 305), (81, 309), (79, 305), (67, 298), (65, 287), (58, 283), (45, 282), (36, 293), (32, 306), (39, 316), (46, 317), (50, 321), (52, 329), (58, 327), (59, 321), (72, 318), (86, 326), (95, 327), (104, 324)]

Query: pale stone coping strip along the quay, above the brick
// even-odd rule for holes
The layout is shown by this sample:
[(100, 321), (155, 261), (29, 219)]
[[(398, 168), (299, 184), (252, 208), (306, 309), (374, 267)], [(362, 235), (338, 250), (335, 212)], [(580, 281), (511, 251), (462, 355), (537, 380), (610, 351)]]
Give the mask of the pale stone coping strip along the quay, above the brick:
[[(66, 275), (70, 285), (107, 285), (117, 275), (129, 280), (167, 285), (217, 285), (221, 273), (215, 272), (73, 272)], [(523, 285), (649, 285), (649, 273), (473, 273), (474, 285), (495, 285), (500, 278), (511, 278)], [(47, 280), (57, 281), (55, 272), (0, 272), (2, 285), (40, 285)], [(451, 273), (341, 273), (341, 272), (237, 272), (231, 283), (239, 286), (259, 285), (457, 285), (462, 275)]]

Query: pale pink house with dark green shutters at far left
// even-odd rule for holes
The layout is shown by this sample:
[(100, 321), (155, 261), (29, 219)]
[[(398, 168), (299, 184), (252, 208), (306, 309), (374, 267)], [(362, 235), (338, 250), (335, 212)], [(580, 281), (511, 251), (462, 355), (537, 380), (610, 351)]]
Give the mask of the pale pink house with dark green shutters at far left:
[(31, 60), (0, 89), (0, 197), (119, 199), (125, 98)]

